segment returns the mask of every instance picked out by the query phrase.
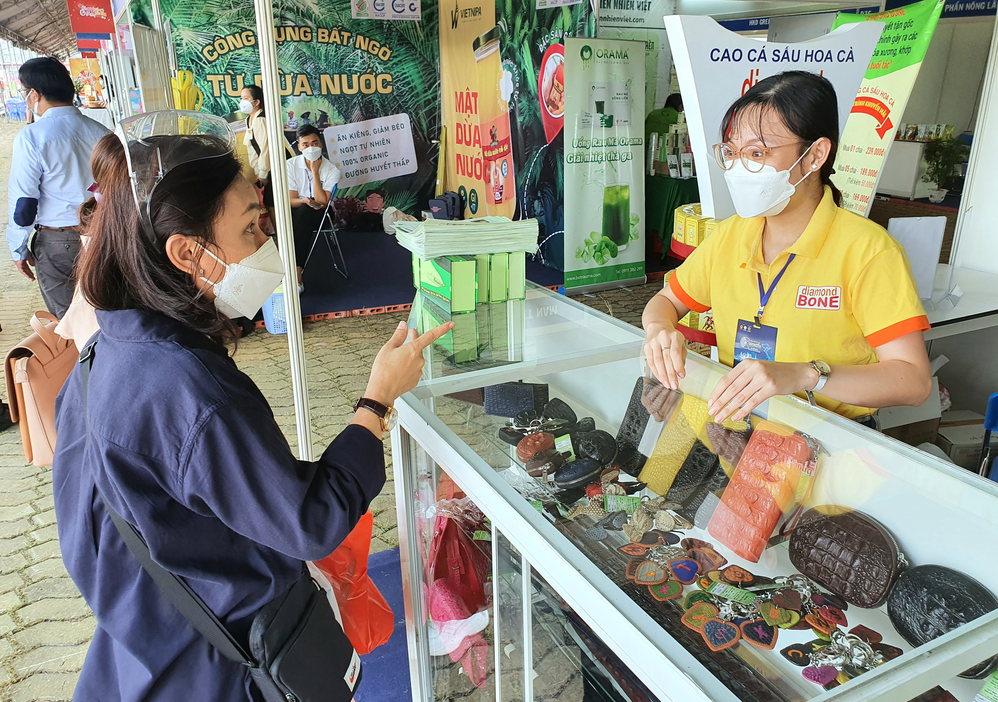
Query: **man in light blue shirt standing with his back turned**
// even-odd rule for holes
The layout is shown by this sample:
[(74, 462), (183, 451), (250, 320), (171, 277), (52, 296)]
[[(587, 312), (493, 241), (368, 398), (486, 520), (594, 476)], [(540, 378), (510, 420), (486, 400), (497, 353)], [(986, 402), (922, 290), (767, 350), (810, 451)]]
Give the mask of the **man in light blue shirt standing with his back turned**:
[[(77, 211), (90, 199), (88, 189), (94, 183), (90, 156), (110, 132), (73, 107), (73, 79), (58, 60), (26, 61), (18, 77), (37, 119), (14, 139), (7, 244), (17, 270), (31, 281), (38, 275), (45, 307), (61, 319), (76, 284)], [(32, 230), (36, 234), (30, 241)]]

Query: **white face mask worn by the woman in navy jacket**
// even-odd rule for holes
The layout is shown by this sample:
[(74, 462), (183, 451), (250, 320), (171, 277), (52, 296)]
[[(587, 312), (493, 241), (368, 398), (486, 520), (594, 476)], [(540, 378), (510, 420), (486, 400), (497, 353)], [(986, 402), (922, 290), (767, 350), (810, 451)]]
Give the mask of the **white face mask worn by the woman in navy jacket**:
[(227, 264), (205, 247), (205, 253), (226, 267), (219, 283), (202, 278), (214, 286), (215, 306), (230, 318), (252, 317), (259, 311), (284, 277), (284, 267), (272, 239), (238, 264)]

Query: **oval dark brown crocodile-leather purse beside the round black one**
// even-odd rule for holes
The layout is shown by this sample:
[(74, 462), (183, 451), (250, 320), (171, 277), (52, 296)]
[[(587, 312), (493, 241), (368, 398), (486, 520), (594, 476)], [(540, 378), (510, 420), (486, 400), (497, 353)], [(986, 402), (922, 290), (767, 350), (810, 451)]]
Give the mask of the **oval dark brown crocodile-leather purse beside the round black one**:
[(857, 607), (879, 607), (907, 567), (897, 541), (879, 521), (856, 509), (808, 509), (790, 535), (790, 562)]

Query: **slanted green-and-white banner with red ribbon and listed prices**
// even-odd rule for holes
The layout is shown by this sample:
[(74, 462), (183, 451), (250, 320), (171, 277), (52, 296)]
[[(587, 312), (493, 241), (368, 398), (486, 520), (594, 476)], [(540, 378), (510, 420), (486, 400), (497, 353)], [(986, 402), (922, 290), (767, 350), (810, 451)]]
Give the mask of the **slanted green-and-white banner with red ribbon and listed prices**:
[(880, 171), (935, 33), (943, 0), (922, 0), (875, 15), (839, 13), (834, 27), (883, 22), (883, 33), (838, 142), (832, 182), (842, 207), (866, 217)]

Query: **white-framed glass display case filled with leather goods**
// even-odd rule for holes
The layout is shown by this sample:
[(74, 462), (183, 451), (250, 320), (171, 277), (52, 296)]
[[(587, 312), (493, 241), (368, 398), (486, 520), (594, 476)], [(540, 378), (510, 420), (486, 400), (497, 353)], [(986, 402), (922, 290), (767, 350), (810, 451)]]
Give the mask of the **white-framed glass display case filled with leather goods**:
[(414, 700), (971, 702), (998, 666), (995, 483), (795, 397), (717, 424), (727, 368), (670, 390), (542, 288), (462, 317), (392, 432)]

